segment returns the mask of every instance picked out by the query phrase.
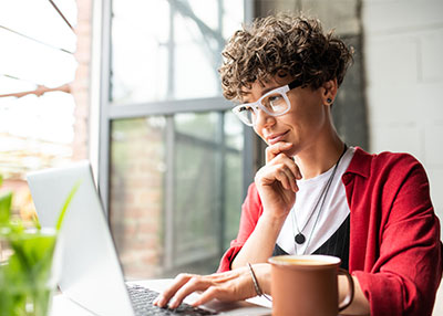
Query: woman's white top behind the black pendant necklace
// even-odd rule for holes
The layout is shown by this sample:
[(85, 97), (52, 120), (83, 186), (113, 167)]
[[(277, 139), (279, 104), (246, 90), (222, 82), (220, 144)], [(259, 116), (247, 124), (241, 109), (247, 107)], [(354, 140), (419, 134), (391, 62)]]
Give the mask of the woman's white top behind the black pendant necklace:
[[(313, 210), (313, 208), (336, 166), (332, 166), (331, 169), (315, 178), (297, 181), (299, 191), (297, 192), (296, 203), (286, 218), (280, 234), (277, 238), (277, 244), (285, 252), (288, 254), (313, 253), (332, 236), (347, 219), (350, 210), (341, 176), (348, 169), (354, 151), (354, 147), (349, 147), (341, 158), (321, 211), (321, 200), (317, 209)], [(309, 218), (310, 220), (308, 221)], [(295, 242), (295, 236), (298, 234), (297, 225), (306, 238), (302, 244)]]

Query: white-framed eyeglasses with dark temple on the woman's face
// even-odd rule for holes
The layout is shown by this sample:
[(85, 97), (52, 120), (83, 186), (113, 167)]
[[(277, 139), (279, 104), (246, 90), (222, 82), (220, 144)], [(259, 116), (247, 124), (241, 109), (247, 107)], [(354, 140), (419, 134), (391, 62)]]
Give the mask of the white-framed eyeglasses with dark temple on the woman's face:
[(266, 93), (256, 102), (237, 105), (233, 108), (233, 113), (248, 126), (254, 126), (256, 124), (259, 109), (271, 116), (284, 115), (290, 109), (290, 102), (287, 93), (300, 85), (301, 81), (295, 80), (287, 85)]

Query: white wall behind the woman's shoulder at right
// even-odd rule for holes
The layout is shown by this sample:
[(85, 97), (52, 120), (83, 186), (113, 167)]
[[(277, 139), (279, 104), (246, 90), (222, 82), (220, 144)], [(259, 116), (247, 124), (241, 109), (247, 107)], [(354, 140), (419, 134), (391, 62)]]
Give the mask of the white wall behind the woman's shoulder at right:
[(442, 221), (443, 0), (363, 0), (362, 27), (370, 150), (414, 155)]

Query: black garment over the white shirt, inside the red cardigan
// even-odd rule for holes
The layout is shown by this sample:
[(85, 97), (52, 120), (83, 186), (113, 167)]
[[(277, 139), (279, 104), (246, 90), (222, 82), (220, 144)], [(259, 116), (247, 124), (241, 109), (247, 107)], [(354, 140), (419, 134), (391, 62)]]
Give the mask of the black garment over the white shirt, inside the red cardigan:
[[(340, 267), (348, 270), (349, 267), (349, 228), (350, 215), (341, 223), (340, 228), (312, 254), (328, 254), (341, 259)], [(278, 244), (274, 247), (274, 255), (288, 254)]]

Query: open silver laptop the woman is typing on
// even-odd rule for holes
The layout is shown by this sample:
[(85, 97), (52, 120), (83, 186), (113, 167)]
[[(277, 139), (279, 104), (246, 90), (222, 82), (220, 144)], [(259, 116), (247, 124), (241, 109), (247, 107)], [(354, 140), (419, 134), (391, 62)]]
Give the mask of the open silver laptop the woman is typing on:
[[(61, 274), (59, 287), (63, 295), (94, 315), (270, 315), (270, 308), (249, 302), (213, 301), (200, 308), (182, 304), (177, 310), (152, 306), (158, 295), (146, 288), (150, 282), (126, 283), (107, 219), (89, 161), (65, 168), (52, 168), (28, 175), (28, 183), (42, 227), (55, 227), (69, 192), (80, 181), (60, 232)], [(171, 280), (161, 280), (156, 289)], [(151, 295), (147, 301), (142, 296)], [(151, 312), (151, 308), (156, 308)], [(190, 310), (192, 309), (192, 310)], [(193, 314), (194, 313), (194, 314)]]

